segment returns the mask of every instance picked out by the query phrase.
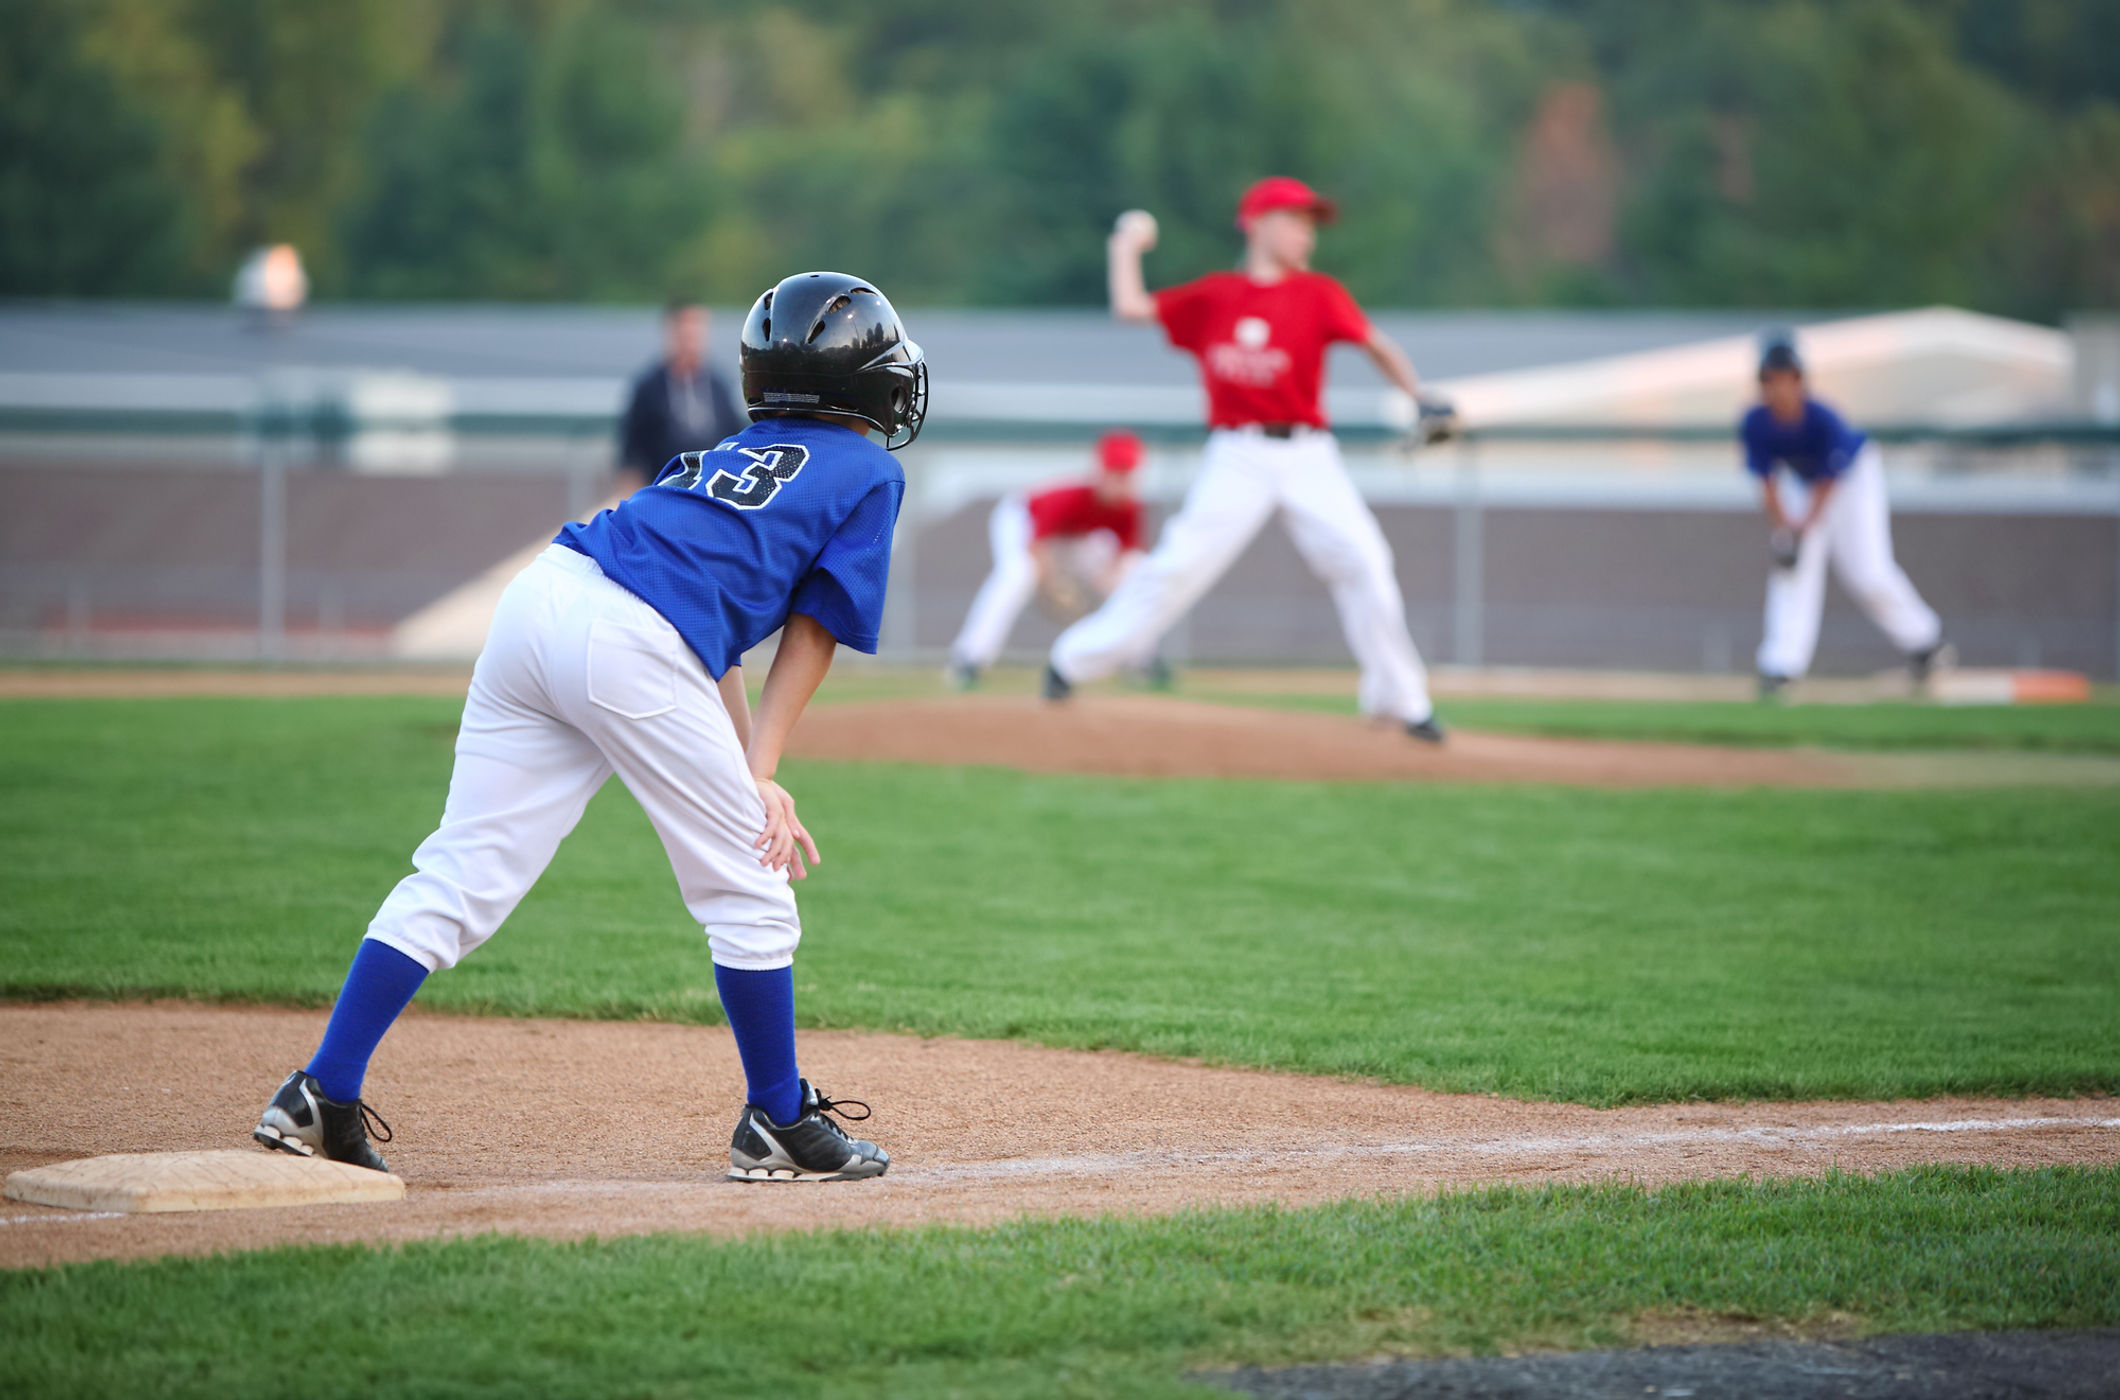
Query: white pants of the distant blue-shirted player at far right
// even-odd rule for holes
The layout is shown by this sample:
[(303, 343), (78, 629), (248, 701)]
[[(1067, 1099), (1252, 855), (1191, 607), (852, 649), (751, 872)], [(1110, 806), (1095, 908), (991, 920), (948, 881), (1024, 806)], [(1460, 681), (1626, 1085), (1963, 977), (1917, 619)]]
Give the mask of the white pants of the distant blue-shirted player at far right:
[(1866, 443), (1825, 503), (1825, 515), (1804, 532), (1796, 568), (1774, 568), (1766, 577), (1760, 675), (1800, 677), (1810, 670), (1810, 658), (1819, 649), (1819, 617), (1825, 613), (1827, 560), (1840, 588), (1893, 647), (1914, 653), (1938, 643), (1942, 622), (1936, 609), (1921, 600), (1906, 571), (1891, 558), (1885, 458), (1876, 443)]

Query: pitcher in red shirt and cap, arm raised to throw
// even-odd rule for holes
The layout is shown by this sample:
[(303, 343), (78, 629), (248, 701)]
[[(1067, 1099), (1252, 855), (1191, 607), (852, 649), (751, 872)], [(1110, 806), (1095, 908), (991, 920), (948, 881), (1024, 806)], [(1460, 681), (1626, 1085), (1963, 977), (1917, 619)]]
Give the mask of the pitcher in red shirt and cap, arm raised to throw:
[(1162, 325), (1200, 361), (1206, 384), (1206, 460), (1155, 552), (1096, 613), (1054, 643), (1045, 696), (1141, 664), (1155, 641), (1200, 600), (1274, 515), (1327, 588), (1340, 630), (1361, 666), (1361, 713), (1442, 742), (1427, 670), (1406, 632), (1406, 602), (1391, 545), (1340, 465), (1321, 403), (1325, 350), (1350, 342), (1412, 399), (1412, 363), (1370, 325), (1333, 278), (1310, 272), (1317, 225), (1333, 204), (1302, 180), (1259, 180), (1236, 210), (1240, 272), (1215, 272), (1149, 293), (1141, 255), (1155, 246), (1143, 210), (1119, 216), (1109, 242), (1111, 314)]

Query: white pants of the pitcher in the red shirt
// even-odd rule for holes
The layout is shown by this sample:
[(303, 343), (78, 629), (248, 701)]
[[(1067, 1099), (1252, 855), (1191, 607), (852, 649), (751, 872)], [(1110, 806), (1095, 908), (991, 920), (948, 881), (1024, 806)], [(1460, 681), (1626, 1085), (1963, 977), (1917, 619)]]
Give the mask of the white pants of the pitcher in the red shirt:
[(1164, 524), (1155, 552), (1119, 581), (1105, 607), (1060, 634), (1054, 670), (1081, 683), (1143, 664), (1276, 511), (1304, 562), (1331, 590), (1340, 630), (1361, 666), (1361, 713), (1427, 719), (1429, 677), (1406, 632), (1391, 545), (1340, 465), (1331, 433), (1287, 439), (1257, 428), (1208, 433), (1200, 475)]

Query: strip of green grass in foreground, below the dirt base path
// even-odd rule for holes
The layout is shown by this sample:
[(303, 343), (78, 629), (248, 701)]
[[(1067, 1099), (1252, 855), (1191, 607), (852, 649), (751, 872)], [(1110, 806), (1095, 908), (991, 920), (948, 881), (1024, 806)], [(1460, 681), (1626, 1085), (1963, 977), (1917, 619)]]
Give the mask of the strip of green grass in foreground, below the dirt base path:
[(1213, 1394), (1187, 1368), (1613, 1345), (1673, 1311), (1853, 1313), (1868, 1332), (2114, 1324), (2120, 1175), (74, 1264), (0, 1275), (0, 1392), (1174, 1396)]

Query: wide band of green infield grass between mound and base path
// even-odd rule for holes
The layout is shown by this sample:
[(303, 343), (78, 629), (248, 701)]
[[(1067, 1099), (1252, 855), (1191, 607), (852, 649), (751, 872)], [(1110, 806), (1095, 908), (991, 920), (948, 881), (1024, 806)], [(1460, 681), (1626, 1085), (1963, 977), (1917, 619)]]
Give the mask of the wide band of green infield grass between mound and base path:
[[(322, 1005), (445, 700), (0, 706), (0, 995)], [(1582, 791), (789, 764), (806, 1025), (1586, 1103), (2120, 1088), (2120, 789)], [(619, 785), (424, 1005), (719, 1020)]]

